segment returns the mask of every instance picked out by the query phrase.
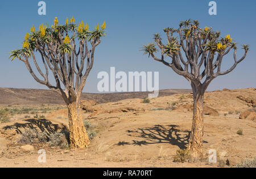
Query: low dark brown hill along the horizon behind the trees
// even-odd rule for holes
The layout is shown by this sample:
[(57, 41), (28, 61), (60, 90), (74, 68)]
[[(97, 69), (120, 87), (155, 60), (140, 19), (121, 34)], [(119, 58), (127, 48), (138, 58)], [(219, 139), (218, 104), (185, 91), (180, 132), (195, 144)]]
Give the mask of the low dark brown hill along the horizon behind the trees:
[[(188, 89), (165, 89), (159, 90), (159, 96), (172, 95), (176, 93), (191, 93)], [(125, 92), (125, 93), (82, 93), (81, 99), (90, 99), (98, 103), (114, 102), (122, 99), (144, 98), (151, 92)], [(55, 91), (44, 89), (18, 89), (0, 88), (1, 105), (40, 105), (64, 104), (63, 99)]]

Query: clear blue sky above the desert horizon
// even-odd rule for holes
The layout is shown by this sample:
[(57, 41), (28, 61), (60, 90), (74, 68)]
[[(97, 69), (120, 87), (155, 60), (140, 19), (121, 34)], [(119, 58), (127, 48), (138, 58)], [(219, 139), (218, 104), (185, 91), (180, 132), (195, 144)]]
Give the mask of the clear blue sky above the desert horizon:
[[(256, 1), (216, 0), (217, 15), (208, 14), (209, 0), (98, 0), (98, 1), (59, 1), (46, 0), (47, 14), (38, 15), (37, 0), (1, 1), (1, 48), (0, 48), (0, 87), (39, 88), (22, 61), (9, 60), (9, 52), (22, 47), (26, 32), (40, 23), (52, 24), (55, 16), (59, 23), (75, 16), (76, 22), (84, 22), (93, 28), (96, 23), (106, 20), (107, 36), (96, 49), (95, 62), (84, 91), (97, 93), (98, 72), (110, 71), (157, 71), (160, 89), (190, 89), (188, 81), (177, 75), (171, 68), (148, 59), (139, 51), (143, 44), (153, 42), (152, 34), (164, 27), (179, 26), (185, 19), (199, 20), (201, 27), (220, 30), (222, 36), (230, 34), (239, 45), (250, 44), (246, 59), (233, 72), (214, 79), (208, 90), (223, 88), (256, 87)], [(240, 48), (240, 47), (239, 47)], [(238, 51), (243, 52), (242, 49)], [(242, 53), (238, 52), (238, 56)], [(39, 59), (40, 60), (40, 59)], [(224, 68), (232, 65), (233, 57), (224, 59)]]

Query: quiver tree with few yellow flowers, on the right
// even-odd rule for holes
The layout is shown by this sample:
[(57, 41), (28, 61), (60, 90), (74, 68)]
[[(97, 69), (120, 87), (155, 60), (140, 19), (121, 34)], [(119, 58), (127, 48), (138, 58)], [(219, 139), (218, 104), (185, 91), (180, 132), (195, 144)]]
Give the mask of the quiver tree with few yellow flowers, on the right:
[[(155, 43), (143, 45), (142, 51), (154, 60), (169, 66), (177, 74), (185, 77), (191, 84), (193, 91), (193, 123), (189, 138), (188, 150), (191, 160), (195, 161), (203, 153), (203, 98), (210, 82), (217, 76), (228, 74), (237, 64), (245, 59), (249, 45), (242, 45), (245, 50), (241, 59), (237, 60), (237, 46), (230, 38), (220, 37), (220, 32), (212, 28), (199, 27), (199, 22), (185, 20), (179, 28), (164, 28), (167, 44), (163, 44), (159, 34), (154, 35)], [(177, 36), (174, 36), (175, 33)], [(156, 57), (158, 48), (160, 58)], [(221, 70), (222, 59), (231, 50), (234, 51), (234, 64), (225, 71)], [(168, 60), (168, 59), (170, 60)]]

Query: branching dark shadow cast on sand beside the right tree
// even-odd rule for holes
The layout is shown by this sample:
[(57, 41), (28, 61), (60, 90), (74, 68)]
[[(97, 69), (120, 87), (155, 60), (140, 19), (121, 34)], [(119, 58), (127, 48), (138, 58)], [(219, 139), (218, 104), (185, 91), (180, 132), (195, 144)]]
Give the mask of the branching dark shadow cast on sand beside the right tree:
[(126, 141), (119, 141), (117, 145), (148, 145), (159, 143), (170, 143), (177, 145), (180, 149), (185, 149), (188, 144), (190, 131), (181, 131), (177, 129), (176, 125), (155, 125), (154, 127), (138, 128), (138, 130), (127, 132), (128, 135), (135, 138), (142, 138), (144, 140), (133, 140), (133, 143)]

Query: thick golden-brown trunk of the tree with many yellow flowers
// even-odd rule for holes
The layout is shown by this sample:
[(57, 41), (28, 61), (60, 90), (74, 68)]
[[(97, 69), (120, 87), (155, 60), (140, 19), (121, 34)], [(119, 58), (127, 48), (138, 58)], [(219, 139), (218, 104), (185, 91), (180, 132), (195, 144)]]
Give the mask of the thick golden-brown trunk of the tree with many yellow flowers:
[(68, 105), (69, 117), (69, 139), (71, 148), (84, 148), (90, 145), (79, 102), (73, 102)]

